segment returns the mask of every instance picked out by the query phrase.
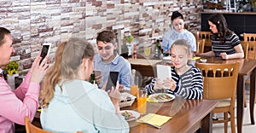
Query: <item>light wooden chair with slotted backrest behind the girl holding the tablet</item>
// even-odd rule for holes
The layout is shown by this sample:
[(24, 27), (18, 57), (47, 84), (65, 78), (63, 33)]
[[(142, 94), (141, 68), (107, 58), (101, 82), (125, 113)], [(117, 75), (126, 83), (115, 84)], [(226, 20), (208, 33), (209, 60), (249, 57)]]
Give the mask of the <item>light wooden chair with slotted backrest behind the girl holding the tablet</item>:
[(234, 110), (239, 63), (209, 64), (196, 62), (195, 66), (201, 70), (203, 76), (203, 99), (219, 101), (218, 106), (212, 112), (224, 113), (224, 119), (213, 120), (213, 123), (224, 123), (224, 132), (227, 133), (228, 122), (230, 121), (232, 133), (235, 133)]

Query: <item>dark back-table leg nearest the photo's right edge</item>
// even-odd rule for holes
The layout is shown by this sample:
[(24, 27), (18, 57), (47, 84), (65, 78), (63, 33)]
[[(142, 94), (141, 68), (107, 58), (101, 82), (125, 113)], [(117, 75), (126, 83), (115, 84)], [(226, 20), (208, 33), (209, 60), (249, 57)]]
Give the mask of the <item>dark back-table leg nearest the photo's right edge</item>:
[(254, 124), (254, 102), (255, 102), (255, 69), (250, 76), (250, 116), (251, 124)]

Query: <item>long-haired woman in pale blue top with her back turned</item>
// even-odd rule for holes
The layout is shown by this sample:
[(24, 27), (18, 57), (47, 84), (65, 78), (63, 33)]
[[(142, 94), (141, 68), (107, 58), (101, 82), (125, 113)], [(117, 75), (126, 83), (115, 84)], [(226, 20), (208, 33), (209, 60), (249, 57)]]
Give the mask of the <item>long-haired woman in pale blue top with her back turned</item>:
[[(55, 53), (42, 86), (41, 124), (54, 132), (129, 132), (119, 114), (119, 90), (99, 90), (90, 84), (94, 50), (90, 43), (70, 38)], [(117, 88), (119, 84), (117, 84)]]

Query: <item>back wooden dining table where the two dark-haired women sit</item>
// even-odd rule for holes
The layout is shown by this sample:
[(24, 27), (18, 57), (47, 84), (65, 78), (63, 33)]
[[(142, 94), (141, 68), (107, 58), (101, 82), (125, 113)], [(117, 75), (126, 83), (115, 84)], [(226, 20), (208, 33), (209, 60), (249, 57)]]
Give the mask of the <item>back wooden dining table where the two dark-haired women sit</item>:
[[(242, 120), (243, 120), (243, 112), (244, 112), (244, 95), (243, 94), (245, 91), (245, 88), (244, 88), (245, 82), (244, 81), (247, 77), (250, 77), (250, 101), (249, 101), (250, 119), (251, 119), (251, 124), (255, 124), (253, 110), (254, 110), (254, 101), (255, 101), (256, 60), (250, 60), (250, 59), (223, 60), (221, 57), (215, 57), (215, 56), (201, 57), (201, 58), (206, 58), (207, 63), (227, 64), (227, 63), (232, 63), (232, 62), (236, 62), (236, 61), (239, 62), (240, 68), (239, 68), (239, 75), (238, 75), (238, 79), (237, 79), (237, 90), (236, 90), (237, 132), (238, 133), (242, 132)], [(197, 61), (199, 61), (199, 60), (197, 60)], [(156, 65), (156, 64), (154, 64), (154, 65)], [(151, 71), (148, 71), (148, 70), (144, 71), (143, 68), (145, 68), (145, 67), (148, 69), (151, 68)], [(137, 69), (139, 72), (142, 73), (142, 75), (143, 75), (143, 73), (147, 73), (147, 76), (152, 76), (152, 77), (154, 77), (154, 75), (155, 75), (155, 72), (153, 71), (154, 67), (155, 66), (150, 66), (149, 64), (143, 66), (143, 65), (131, 63), (132, 69)]]

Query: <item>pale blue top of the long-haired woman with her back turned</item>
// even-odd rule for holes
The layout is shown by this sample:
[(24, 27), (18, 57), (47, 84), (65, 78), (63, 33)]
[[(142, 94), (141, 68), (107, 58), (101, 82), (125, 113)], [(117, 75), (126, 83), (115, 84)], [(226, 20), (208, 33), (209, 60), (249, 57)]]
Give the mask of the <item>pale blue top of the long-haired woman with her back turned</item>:
[[(62, 88), (62, 91), (61, 91)], [(108, 94), (93, 84), (73, 80), (62, 87), (55, 86), (49, 107), (40, 116), (44, 130), (54, 132), (128, 133), (129, 124), (115, 113)]]

